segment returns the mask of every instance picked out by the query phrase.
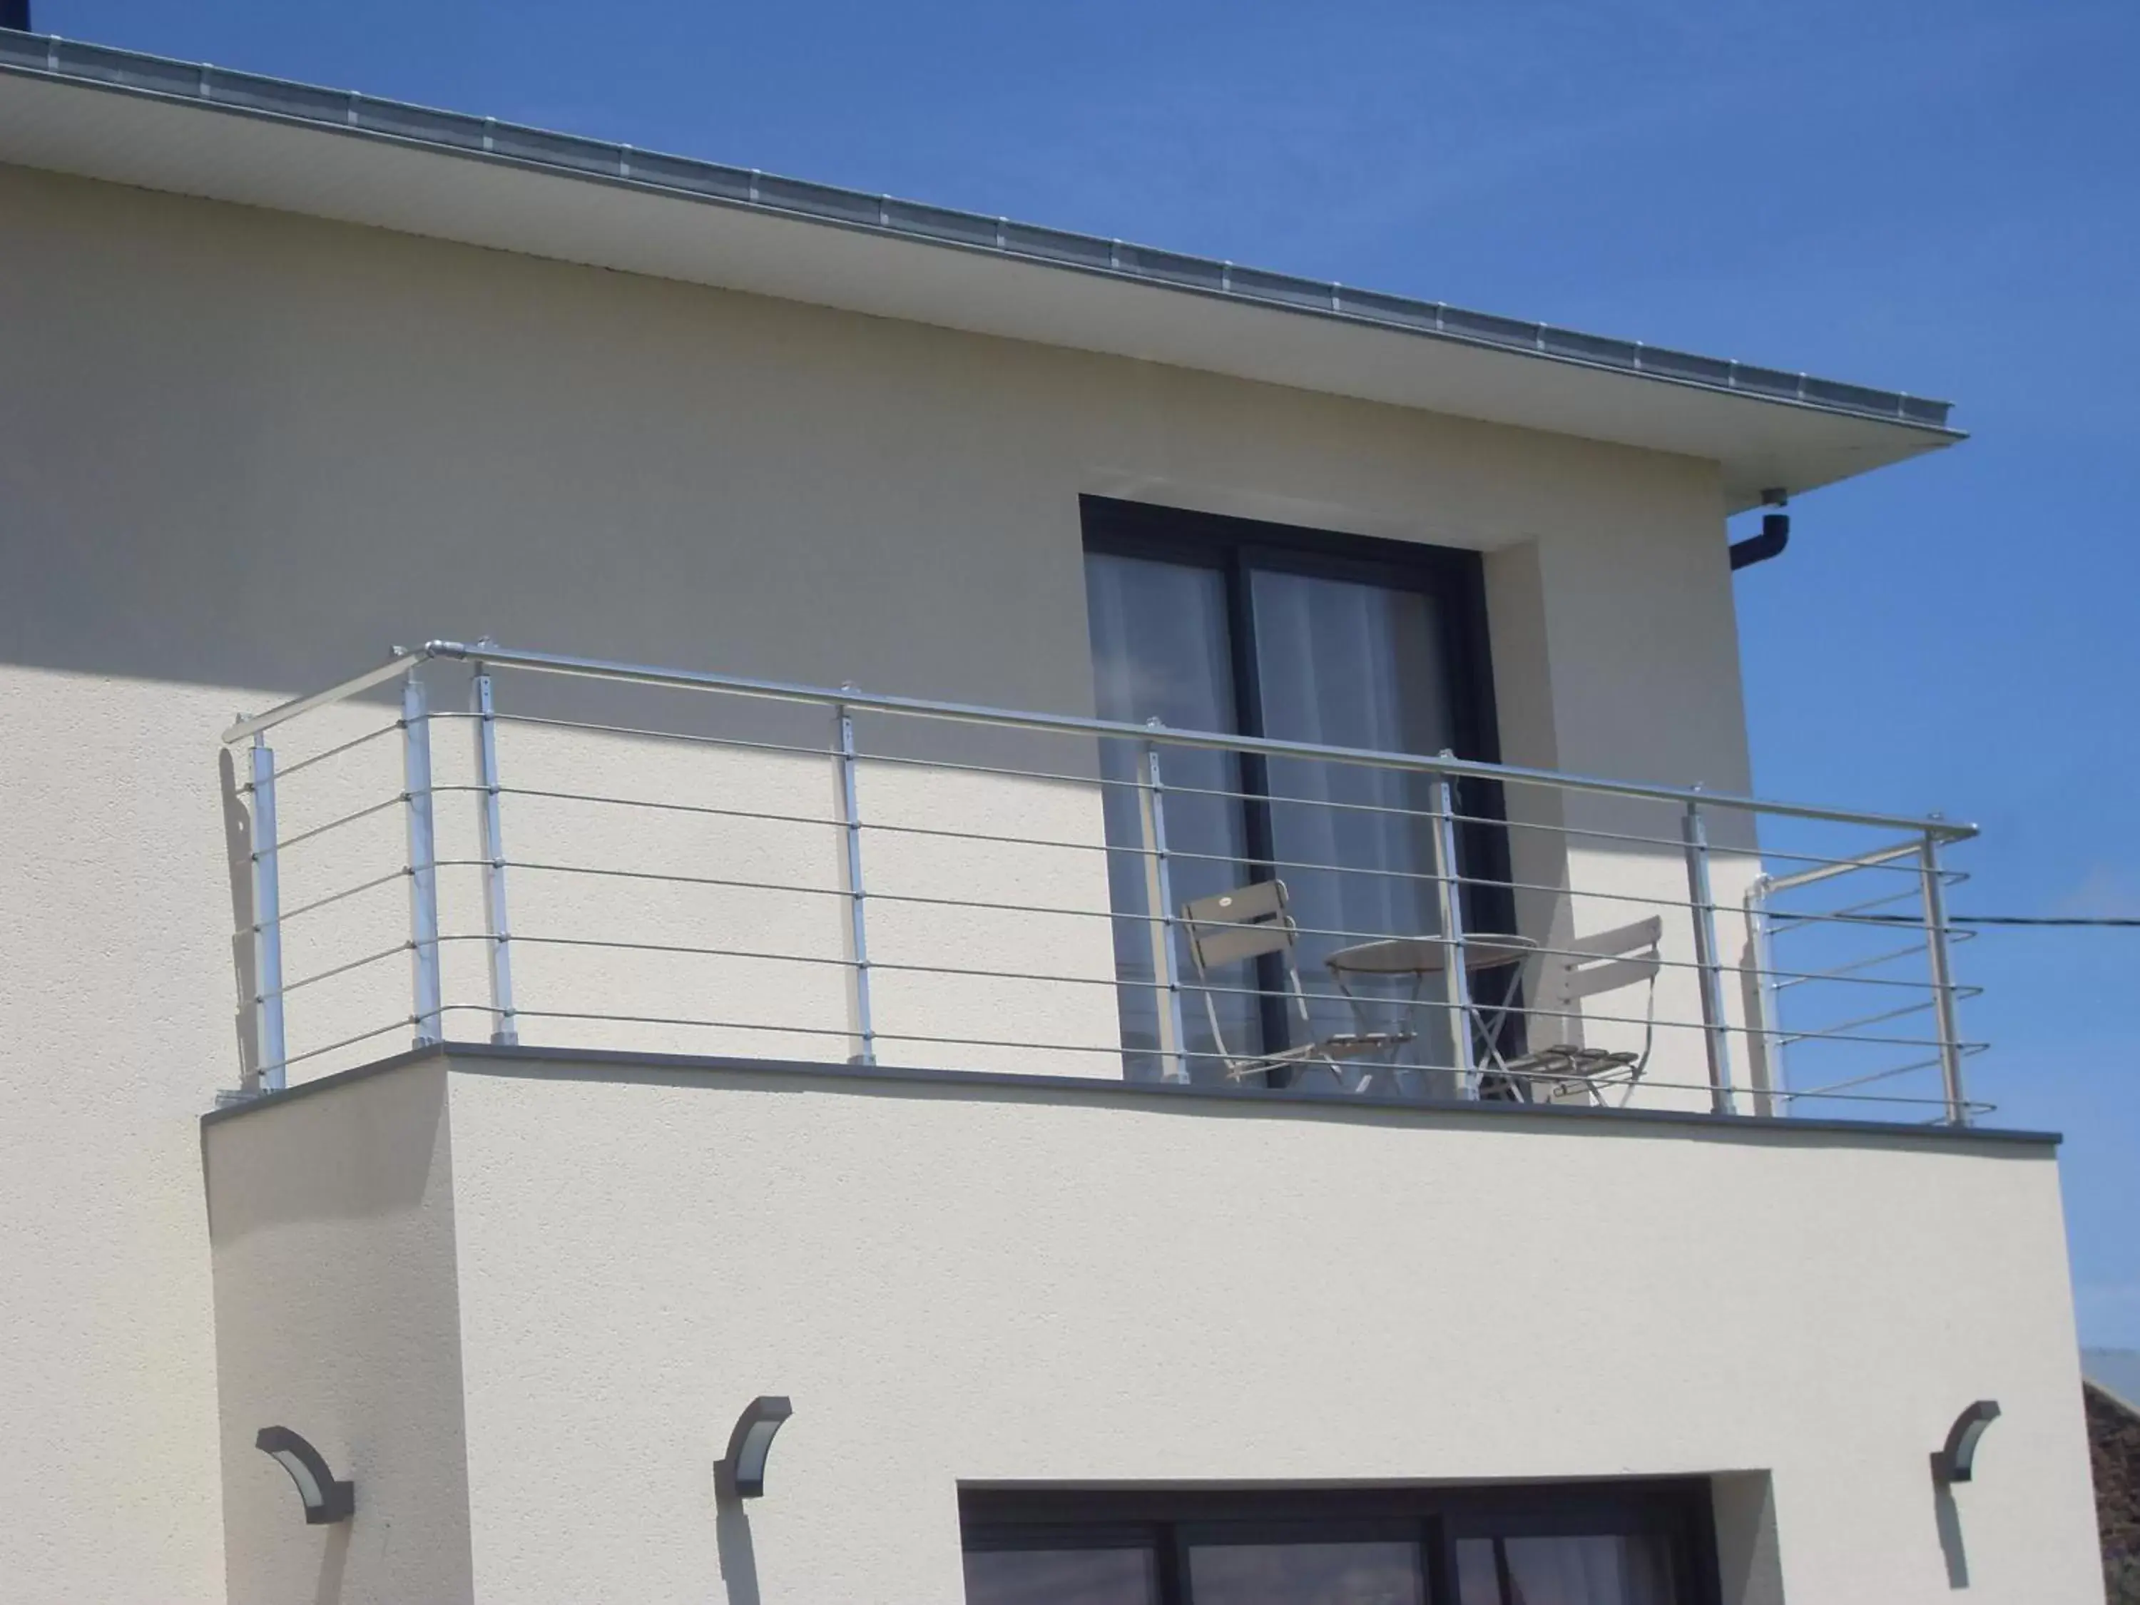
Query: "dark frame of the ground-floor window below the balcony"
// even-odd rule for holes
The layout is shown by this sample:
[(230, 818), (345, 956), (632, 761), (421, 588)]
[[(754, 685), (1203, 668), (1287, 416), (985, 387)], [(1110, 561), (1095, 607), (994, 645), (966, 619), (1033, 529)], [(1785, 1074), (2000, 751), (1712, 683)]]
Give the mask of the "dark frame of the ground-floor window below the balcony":
[(1455, 1545), (1650, 1532), (1673, 1549), (1680, 1605), (1723, 1605), (1712, 1489), (1701, 1477), (1305, 1489), (1059, 1489), (963, 1485), (967, 1552), (1149, 1549), (1158, 1605), (1194, 1605), (1188, 1552), (1209, 1543), (1408, 1541), (1427, 1605), (1457, 1605)]

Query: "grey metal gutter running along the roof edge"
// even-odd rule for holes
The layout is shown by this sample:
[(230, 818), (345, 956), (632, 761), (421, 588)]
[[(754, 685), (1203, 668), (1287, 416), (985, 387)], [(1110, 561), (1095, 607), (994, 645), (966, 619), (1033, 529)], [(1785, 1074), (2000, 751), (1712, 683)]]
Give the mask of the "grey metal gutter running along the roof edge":
[(353, 90), (233, 73), (208, 62), (180, 62), (109, 45), (86, 45), (56, 34), (0, 30), (0, 73), (175, 101), (231, 116), (332, 128), (473, 160), (567, 173), (725, 208), (807, 218), (1342, 323), (1397, 330), (1432, 340), (1515, 351), (1547, 362), (1746, 396), (1815, 413), (1883, 419), (1954, 434), (1947, 424), (1952, 402), (1907, 392), (1703, 357), (1641, 340), (1581, 334), (1549, 323), (1472, 312), (1447, 302), (1423, 302), (1335, 280), (1241, 268), (1230, 261), (1158, 250), (1126, 240), (1012, 223), (1010, 218), (901, 201), (832, 184), (811, 184), (758, 169), (526, 128), (496, 118), (381, 101)]

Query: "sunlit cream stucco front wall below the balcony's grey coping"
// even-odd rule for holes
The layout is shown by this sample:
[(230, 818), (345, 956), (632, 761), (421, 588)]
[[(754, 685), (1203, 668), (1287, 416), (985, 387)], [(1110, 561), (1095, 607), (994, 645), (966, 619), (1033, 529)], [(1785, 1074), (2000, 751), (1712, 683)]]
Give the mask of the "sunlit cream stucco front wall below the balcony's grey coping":
[[(295, 1175), (434, 1076), (220, 1121), (218, 1220), (227, 1149)], [(1945, 1601), (1954, 1532), (1971, 1599), (2101, 1599), (2048, 1147), (496, 1061), (445, 1102), (458, 1256), (404, 1299), (458, 1273), (486, 1605), (954, 1605), (961, 1481), (1622, 1474), (1721, 1474), (1733, 1605)], [(274, 1278), (225, 1342), (323, 1286)], [(796, 1415), (745, 1522), (710, 1462), (758, 1393)], [(1926, 1457), (1975, 1397), (2005, 1415), (1943, 1515)], [(443, 1459), (362, 1468), (353, 1556), (364, 1500), (462, 1498)]]

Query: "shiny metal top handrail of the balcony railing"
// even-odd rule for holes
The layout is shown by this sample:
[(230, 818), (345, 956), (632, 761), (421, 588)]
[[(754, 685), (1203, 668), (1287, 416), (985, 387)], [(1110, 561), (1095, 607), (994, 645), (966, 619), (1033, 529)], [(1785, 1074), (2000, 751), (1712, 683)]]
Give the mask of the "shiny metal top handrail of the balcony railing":
[(1201, 747), (1228, 753), (1260, 753), (1265, 758), (1299, 758), (1310, 762), (1363, 764), (1370, 768), (1397, 768), (1425, 775), (1462, 775), (1483, 781), (1513, 781), (1519, 785), (1545, 785), (1564, 792), (1590, 792), (1599, 796), (1626, 796), (1650, 802), (1699, 802), (1703, 807), (1733, 809), (1744, 813), (1768, 813), (1787, 820), (1819, 820), (1828, 824), (1881, 826), (1892, 830), (1930, 832), (1943, 841), (1960, 841), (1977, 835), (1973, 824), (1941, 820), (1937, 815), (1915, 817), (1905, 813), (1864, 813), (1858, 809), (1832, 809), (1806, 802), (1772, 802), (1731, 792), (1708, 792), (1688, 785), (1652, 785), (1644, 781), (1611, 781), (1590, 775), (1562, 775), (1549, 768), (1524, 768), (1519, 764), (1485, 764), (1470, 758), (1442, 758), (1425, 753), (1391, 753), (1372, 747), (1325, 747), (1308, 740), (1278, 740), (1271, 736), (1235, 736), (1216, 730), (1175, 730), (1173, 725), (1138, 725), (1121, 719), (1087, 719), (1066, 713), (1025, 713), (1017, 708), (991, 708), (974, 702), (937, 702), (931, 698), (884, 696), (875, 691), (830, 689), (794, 681), (758, 681), (743, 674), (710, 674), (704, 670), (674, 670), (648, 663), (621, 663), (599, 657), (574, 657), (565, 653), (531, 653), (492, 642), (467, 644), (456, 640), (432, 640), (415, 651), (396, 651), (379, 668), (355, 674), (325, 691), (293, 698), (265, 713), (238, 719), (223, 732), (225, 743), (248, 740), (274, 730), (297, 715), (347, 702), (400, 674), (409, 674), (432, 659), (488, 663), (490, 668), (511, 668), (531, 674), (563, 674), (591, 681), (621, 681), (629, 685), (655, 685), (676, 691), (725, 691), (732, 696), (753, 696), (773, 702), (807, 702), (824, 708), (858, 708), (867, 713), (890, 713), (916, 719), (942, 719), (950, 723), (978, 723), (1006, 730), (1038, 730), (1064, 736), (1119, 736), (1130, 740), (1160, 740), (1168, 747)]

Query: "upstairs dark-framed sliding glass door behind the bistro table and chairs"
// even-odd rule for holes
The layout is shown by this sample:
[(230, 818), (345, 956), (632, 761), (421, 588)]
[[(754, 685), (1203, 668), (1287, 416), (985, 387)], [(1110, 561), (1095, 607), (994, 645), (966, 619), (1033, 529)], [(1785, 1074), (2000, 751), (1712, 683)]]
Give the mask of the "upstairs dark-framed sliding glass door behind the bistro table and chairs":
[[(1098, 499), (1085, 501), (1085, 541), (1100, 717), (1323, 747), (1494, 755), (1472, 554)], [(1102, 753), (1134, 1079), (1162, 1070), (1149, 927), (1158, 910), (1138, 796), (1147, 762), (1138, 743), (1106, 743)], [(1310, 1014), (1303, 1023), (1288, 1004), (1275, 957), (1201, 978), (1183, 972), (1198, 989), (1183, 1008), (1190, 1079), (1220, 1081), (1228, 1061), (1365, 1023), (1415, 1040), (1372, 1066), (1310, 1064), (1256, 1079), (1335, 1089), (1387, 1072), (1385, 1089), (1440, 1091), (1423, 1068), (1451, 1064), (1444, 1010), (1415, 1006), (1415, 989), (1397, 987), (1363, 1019), (1327, 972), (1340, 948), (1440, 933), (1427, 781), (1365, 764), (1164, 745), (1158, 762), (1175, 907), (1250, 882), (1284, 882)], [(1481, 858), (1477, 841), (1472, 832), (1472, 860)], [(1496, 850), (1498, 835), (1483, 858)], [(1177, 963), (1188, 954), (1177, 952)]]

